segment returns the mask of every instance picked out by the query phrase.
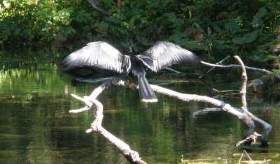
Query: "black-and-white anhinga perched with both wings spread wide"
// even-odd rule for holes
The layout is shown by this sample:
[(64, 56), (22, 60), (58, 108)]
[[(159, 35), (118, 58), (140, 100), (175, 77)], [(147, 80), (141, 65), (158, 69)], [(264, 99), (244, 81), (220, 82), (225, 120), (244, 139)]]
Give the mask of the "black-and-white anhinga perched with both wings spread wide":
[(130, 47), (128, 54), (123, 55), (115, 47), (103, 41), (91, 42), (69, 54), (64, 59), (64, 64), (67, 69), (87, 66), (137, 77), (141, 100), (157, 102), (158, 98), (146, 79), (146, 68), (158, 72), (172, 64), (197, 64), (199, 62), (193, 52), (165, 41), (158, 41), (153, 47), (138, 55), (132, 55)]

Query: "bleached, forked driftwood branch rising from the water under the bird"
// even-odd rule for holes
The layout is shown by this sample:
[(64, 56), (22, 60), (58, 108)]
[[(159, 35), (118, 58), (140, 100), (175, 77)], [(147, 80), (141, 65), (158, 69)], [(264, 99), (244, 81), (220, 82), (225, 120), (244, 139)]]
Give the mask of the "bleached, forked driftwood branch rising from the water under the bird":
[[(229, 112), (230, 114), (234, 115), (238, 119), (240, 119), (244, 125), (244, 137), (249, 137), (255, 133), (255, 122), (258, 122), (263, 126), (262, 130), (262, 135), (261, 135), (261, 140), (264, 145), (267, 145), (267, 137), (269, 135), (269, 132), (272, 130), (272, 126), (270, 124), (267, 124), (267, 122), (263, 121), (262, 119), (259, 119), (258, 117), (255, 117), (251, 112), (247, 110), (246, 106), (246, 67), (244, 66), (243, 62), (241, 59), (239, 59), (238, 56), (235, 56), (235, 59), (239, 61), (241, 70), (242, 70), (242, 85), (241, 85), (241, 107), (232, 107), (230, 104), (225, 103), (221, 100), (217, 100), (215, 98), (210, 98), (208, 96), (200, 96), (196, 94), (182, 94), (176, 91), (172, 91), (170, 89), (166, 89), (164, 87), (160, 87), (157, 85), (152, 85), (151, 88), (153, 91), (158, 92), (160, 94), (165, 94), (167, 96), (171, 96), (174, 98), (178, 98), (180, 100), (185, 100), (185, 101), (197, 101), (197, 102), (203, 102), (203, 103), (209, 103), (211, 105), (214, 105), (216, 107), (219, 107), (221, 110), (225, 112)], [(85, 103), (85, 107), (80, 108), (78, 110), (70, 110), (69, 112), (71, 113), (78, 113), (78, 112), (83, 112), (86, 110), (90, 110), (92, 105), (96, 108), (96, 115), (95, 119), (92, 122), (90, 128), (86, 131), (86, 133), (91, 133), (91, 132), (97, 132), (104, 137), (106, 137), (107, 140), (109, 140), (112, 144), (114, 144), (117, 149), (120, 151), (125, 158), (127, 158), (127, 161), (130, 163), (145, 163), (144, 161), (141, 160), (139, 157), (139, 154), (137, 151), (133, 151), (130, 149), (130, 146), (128, 144), (125, 144), (122, 140), (119, 140), (117, 137), (106, 131), (105, 128), (102, 127), (102, 119), (104, 117), (103, 115), (103, 105), (102, 103), (97, 100), (97, 96), (99, 94), (102, 94), (102, 91), (111, 85), (117, 85), (121, 87), (130, 87), (133, 89), (137, 89), (137, 86), (135, 84), (128, 84), (124, 80), (121, 80), (119, 78), (111, 78), (107, 80), (106, 82), (102, 83), (99, 87), (94, 89), (92, 91), (92, 94), (90, 96), (84, 96), (83, 98), (80, 98), (79, 96), (76, 96), (74, 94), (71, 94), (74, 98), (81, 100)], [(248, 138), (248, 143), (251, 143), (252, 140)]]

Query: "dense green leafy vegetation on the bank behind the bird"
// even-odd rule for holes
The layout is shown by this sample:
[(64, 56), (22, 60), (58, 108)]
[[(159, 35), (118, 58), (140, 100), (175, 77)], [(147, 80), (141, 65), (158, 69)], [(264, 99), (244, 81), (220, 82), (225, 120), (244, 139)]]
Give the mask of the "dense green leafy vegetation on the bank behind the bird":
[[(85, 0), (5, 0), (0, 3), (0, 45), (71, 49), (90, 40), (110, 40), (139, 51), (169, 40), (217, 61), (238, 54), (246, 61), (272, 64), (280, 24), (277, 0), (258, 1), (102, 1), (109, 16)], [(55, 41), (54, 41), (55, 40)], [(204, 55), (203, 55), (204, 54)], [(210, 54), (210, 55), (207, 55)], [(267, 62), (269, 61), (269, 62)]]

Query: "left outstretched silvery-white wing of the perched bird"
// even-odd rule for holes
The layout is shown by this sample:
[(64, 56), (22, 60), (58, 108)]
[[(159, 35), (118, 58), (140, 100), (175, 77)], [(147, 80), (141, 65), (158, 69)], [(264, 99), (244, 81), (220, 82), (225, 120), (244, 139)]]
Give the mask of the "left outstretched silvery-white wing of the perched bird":
[(64, 59), (67, 68), (90, 66), (123, 73), (125, 56), (106, 42), (90, 42)]

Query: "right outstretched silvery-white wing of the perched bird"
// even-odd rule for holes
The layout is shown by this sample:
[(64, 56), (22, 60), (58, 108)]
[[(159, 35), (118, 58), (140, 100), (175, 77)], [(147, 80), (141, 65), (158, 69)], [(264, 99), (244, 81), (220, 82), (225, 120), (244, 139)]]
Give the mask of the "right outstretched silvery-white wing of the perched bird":
[(199, 62), (198, 57), (193, 52), (165, 41), (158, 41), (153, 47), (137, 55), (137, 58), (154, 72), (172, 64), (197, 64)]

